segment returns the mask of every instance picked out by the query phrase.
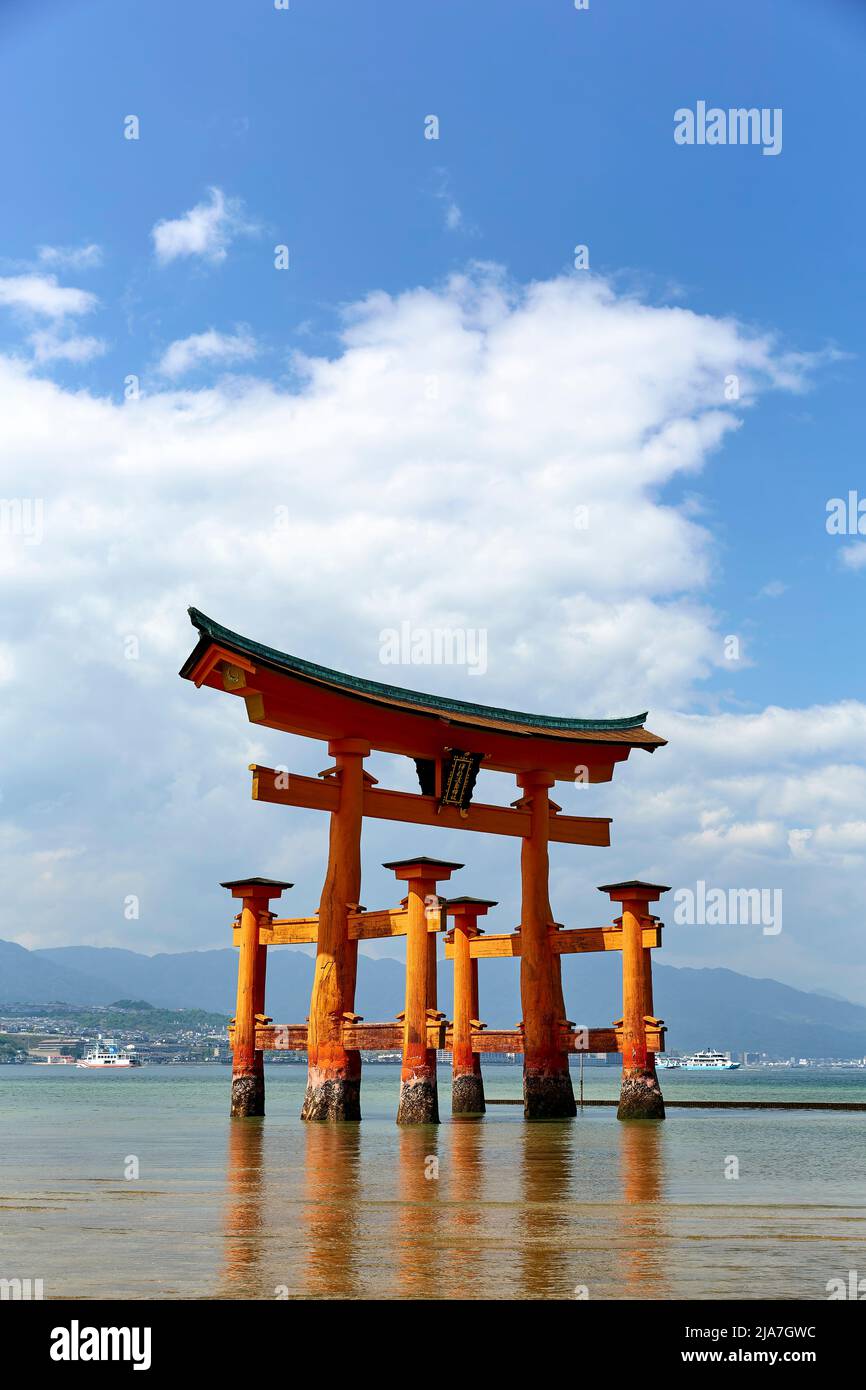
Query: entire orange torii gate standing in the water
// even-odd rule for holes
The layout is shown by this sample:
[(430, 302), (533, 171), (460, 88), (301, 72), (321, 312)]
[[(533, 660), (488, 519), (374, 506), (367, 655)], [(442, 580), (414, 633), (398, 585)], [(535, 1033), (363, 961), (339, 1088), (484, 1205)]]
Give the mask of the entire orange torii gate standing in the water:
[[(569, 1052), (621, 1051), (621, 1116), (660, 1116), (655, 1052), (663, 1047), (660, 1020), (652, 1016), (651, 949), (660, 941), (649, 903), (664, 891), (644, 883), (610, 884), (620, 902), (614, 924), (567, 931), (553, 919), (548, 894), (548, 845), (609, 845), (610, 820), (563, 816), (550, 799), (556, 781), (609, 781), (634, 748), (653, 752), (663, 738), (630, 719), (555, 719), (492, 709), (438, 695), (389, 687), (303, 662), (231, 632), (197, 609), (199, 631), (181, 676), (243, 699), (254, 724), (327, 741), (334, 766), (318, 778), (253, 766), (256, 801), (327, 810), (331, 817), (328, 867), (318, 912), (278, 920), (270, 910), (291, 884), (267, 878), (234, 880), (225, 887), (242, 901), (235, 922), (240, 947), (238, 1012), (232, 1029), (232, 1113), (264, 1112), (263, 1052), (303, 1048), (309, 1056), (304, 1119), (360, 1119), (360, 1052), (368, 1047), (403, 1049), (402, 1123), (438, 1119), (435, 1051), (449, 1047), (455, 1061), (455, 1105), (482, 1106), (477, 1055), (523, 1051), (527, 1118), (575, 1113)], [(411, 758), (420, 792), (379, 788), (364, 770), (373, 749)], [(510, 773), (520, 795), (512, 806), (473, 801), (480, 767)], [(510, 937), (484, 937), (477, 917), (488, 899), (438, 895), (438, 884), (461, 869), (420, 856), (393, 869), (406, 884), (399, 909), (360, 906), (361, 824), (364, 816), (416, 826), (443, 826), (512, 835), (521, 842), (520, 927)], [(463, 905), (460, 908), (460, 905)], [(474, 905), (474, 910), (473, 910)], [(436, 1009), (436, 933), (455, 917), (446, 954), (455, 958), (455, 1020), (449, 1029)], [(386, 1024), (364, 1024), (354, 1013), (357, 944), (405, 934), (406, 1011)], [(264, 1015), (267, 947), (313, 941), (317, 945), (307, 1026), (272, 1027)], [(574, 1030), (566, 1017), (560, 956), (566, 952), (623, 952), (623, 1020), (612, 1029)], [(477, 966), (484, 955), (520, 958), (523, 1022), (514, 1033), (487, 1033), (478, 1019)], [(474, 995), (473, 995), (474, 990)], [(468, 991), (468, 992), (467, 992)], [(461, 1099), (460, 1099), (461, 1097)]]

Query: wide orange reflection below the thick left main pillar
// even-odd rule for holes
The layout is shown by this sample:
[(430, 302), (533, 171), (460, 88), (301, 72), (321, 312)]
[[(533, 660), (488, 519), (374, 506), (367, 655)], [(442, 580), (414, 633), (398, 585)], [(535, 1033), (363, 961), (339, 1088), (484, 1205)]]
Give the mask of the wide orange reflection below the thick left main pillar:
[(364, 1219), (361, 1126), (304, 1125), (304, 1298), (357, 1298)]

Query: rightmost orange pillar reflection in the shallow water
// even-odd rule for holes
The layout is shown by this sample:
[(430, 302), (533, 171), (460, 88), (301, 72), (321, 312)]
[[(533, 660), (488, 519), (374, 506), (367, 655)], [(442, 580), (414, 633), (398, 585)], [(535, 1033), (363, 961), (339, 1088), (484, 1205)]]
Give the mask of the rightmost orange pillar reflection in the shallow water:
[(621, 1297), (670, 1298), (663, 1251), (663, 1126), (651, 1120), (621, 1120), (619, 1129)]

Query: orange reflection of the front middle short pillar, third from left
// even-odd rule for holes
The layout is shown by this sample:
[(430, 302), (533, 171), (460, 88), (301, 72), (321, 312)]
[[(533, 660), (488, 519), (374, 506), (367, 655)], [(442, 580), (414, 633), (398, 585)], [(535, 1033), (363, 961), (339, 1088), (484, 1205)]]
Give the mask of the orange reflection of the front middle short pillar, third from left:
[(405, 1126), (398, 1130), (398, 1201), (391, 1244), (395, 1250), (396, 1287), (392, 1298), (431, 1298), (439, 1279), (448, 1276), (441, 1241), (442, 1182), (439, 1126)]

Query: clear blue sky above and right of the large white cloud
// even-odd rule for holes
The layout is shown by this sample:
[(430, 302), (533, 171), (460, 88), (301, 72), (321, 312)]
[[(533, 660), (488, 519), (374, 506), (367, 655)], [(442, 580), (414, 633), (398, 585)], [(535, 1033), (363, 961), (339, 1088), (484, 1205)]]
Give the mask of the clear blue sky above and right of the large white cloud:
[[(110, 350), (61, 379), (120, 396), (128, 371), (146, 374), (165, 341), (203, 321), (249, 324), (278, 375), (295, 346), (334, 352), (338, 306), (371, 288), (432, 284), (468, 259), (544, 278), (587, 243), (595, 271), (653, 299), (673, 292), (791, 349), (851, 354), (806, 398), (766, 402), (726, 468), (701, 480), (719, 527), (716, 599), (762, 655), (740, 696), (851, 692), (865, 669), (851, 641), (862, 585), (840, 574), (824, 506), (863, 477), (856, 4), (72, 0), (25, 11), (7, 21), (0, 93), (14, 131), (6, 256), (108, 243), (86, 285)], [(673, 111), (699, 97), (781, 106), (783, 156), (677, 147)], [(142, 120), (138, 143), (121, 138), (128, 113)], [(438, 142), (423, 139), (428, 113)], [(209, 186), (243, 199), (261, 235), (240, 238), (217, 275), (154, 267), (153, 224)], [(448, 234), (450, 200), (463, 225)], [(291, 249), (284, 278), (271, 271), (277, 242)], [(773, 580), (787, 595), (758, 602)], [(803, 660), (809, 627), (820, 662)]]

